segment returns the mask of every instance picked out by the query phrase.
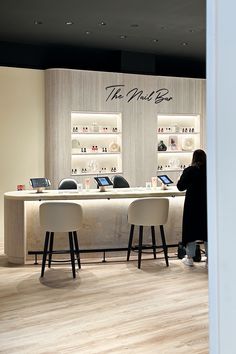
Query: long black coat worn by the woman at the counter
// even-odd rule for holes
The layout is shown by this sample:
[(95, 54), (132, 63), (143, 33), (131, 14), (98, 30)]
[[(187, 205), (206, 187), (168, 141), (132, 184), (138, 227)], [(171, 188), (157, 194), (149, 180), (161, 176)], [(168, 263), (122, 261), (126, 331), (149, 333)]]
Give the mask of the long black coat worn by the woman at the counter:
[(182, 242), (207, 241), (206, 167), (189, 166), (184, 169), (177, 188), (186, 190)]

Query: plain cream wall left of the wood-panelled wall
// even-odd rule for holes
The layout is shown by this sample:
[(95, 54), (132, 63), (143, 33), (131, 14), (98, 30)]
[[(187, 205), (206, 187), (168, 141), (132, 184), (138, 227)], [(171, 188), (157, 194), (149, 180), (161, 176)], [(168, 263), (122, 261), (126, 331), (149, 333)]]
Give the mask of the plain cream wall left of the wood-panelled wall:
[(44, 71), (0, 67), (0, 244), (3, 194), (44, 175)]

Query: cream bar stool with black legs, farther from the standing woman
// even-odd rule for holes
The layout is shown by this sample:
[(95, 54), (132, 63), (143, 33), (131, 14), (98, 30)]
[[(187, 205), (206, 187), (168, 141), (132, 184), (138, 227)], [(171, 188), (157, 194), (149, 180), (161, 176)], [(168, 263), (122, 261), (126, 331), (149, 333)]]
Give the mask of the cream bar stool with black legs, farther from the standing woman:
[(44, 276), (45, 265), (48, 256), (48, 267), (51, 267), (53, 253), (65, 253), (65, 251), (53, 251), (53, 241), (55, 232), (68, 232), (70, 246), (70, 261), (73, 278), (75, 273), (75, 255), (80, 264), (79, 243), (77, 230), (82, 224), (83, 211), (79, 204), (72, 202), (45, 202), (39, 207), (40, 226), (46, 232), (44, 241), (44, 251), (42, 259), (41, 277)]

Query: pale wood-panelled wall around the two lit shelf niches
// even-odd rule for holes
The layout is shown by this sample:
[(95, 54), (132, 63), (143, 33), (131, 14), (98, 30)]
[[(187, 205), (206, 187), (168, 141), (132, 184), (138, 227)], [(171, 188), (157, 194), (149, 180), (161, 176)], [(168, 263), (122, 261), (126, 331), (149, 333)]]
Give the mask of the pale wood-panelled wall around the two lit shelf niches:
[[(46, 78), (45, 172), (54, 188), (71, 172), (71, 111), (121, 112), (123, 176), (144, 186), (157, 169), (157, 114), (200, 114), (205, 146), (205, 80), (81, 70), (49, 69)], [(122, 98), (107, 99), (106, 87), (122, 86)], [(137, 88), (146, 99), (131, 93)], [(163, 98), (155, 103), (160, 89)], [(154, 92), (153, 92), (154, 91)], [(111, 92), (111, 90), (109, 91)], [(153, 93), (152, 93), (153, 92)], [(82, 182), (82, 177), (77, 180)]]

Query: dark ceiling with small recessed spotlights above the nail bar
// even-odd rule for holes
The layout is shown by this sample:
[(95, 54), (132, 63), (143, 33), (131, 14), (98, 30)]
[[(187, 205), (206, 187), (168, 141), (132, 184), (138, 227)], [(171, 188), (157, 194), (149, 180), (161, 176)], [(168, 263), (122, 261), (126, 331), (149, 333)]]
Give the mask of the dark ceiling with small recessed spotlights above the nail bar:
[(0, 0), (0, 65), (204, 77), (205, 3)]

